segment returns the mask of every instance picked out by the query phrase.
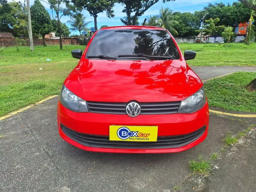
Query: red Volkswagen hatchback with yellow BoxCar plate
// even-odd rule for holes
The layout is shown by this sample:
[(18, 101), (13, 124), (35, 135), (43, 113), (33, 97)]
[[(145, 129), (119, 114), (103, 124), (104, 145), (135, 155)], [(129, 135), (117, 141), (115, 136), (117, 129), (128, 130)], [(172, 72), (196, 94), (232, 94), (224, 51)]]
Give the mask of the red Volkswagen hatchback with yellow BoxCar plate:
[(60, 136), (109, 153), (181, 152), (207, 136), (209, 108), (200, 78), (163, 28), (102, 28), (66, 78), (58, 102)]

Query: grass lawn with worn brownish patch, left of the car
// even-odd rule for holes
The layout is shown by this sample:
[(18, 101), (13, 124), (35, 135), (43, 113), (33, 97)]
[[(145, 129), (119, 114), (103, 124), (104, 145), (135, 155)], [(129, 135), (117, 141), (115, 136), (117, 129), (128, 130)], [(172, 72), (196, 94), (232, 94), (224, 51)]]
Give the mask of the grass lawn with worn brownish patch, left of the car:
[(20, 47), (20, 51), (15, 47), (0, 48), (0, 116), (58, 95), (78, 63), (71, 56), (74, 49), (84, 50), (85, 46), (63, 45), (63, 50), (59, 45), (35, 46), (34, 52), (28, 46)]

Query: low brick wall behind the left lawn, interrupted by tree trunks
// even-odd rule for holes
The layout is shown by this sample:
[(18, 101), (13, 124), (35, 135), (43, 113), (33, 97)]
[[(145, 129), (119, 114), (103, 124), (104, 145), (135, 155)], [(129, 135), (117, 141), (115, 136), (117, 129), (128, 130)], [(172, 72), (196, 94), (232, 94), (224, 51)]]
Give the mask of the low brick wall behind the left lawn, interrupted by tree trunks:
[[(30, 46), (29, 39), (24, 38), (26, 40), (26, 45)], [(33, 39), (34, 45), (43, 45), (42, 39)], [(59, 45), (60, 40), (59, 39), (45, 39), (45, 43), (48, 45)], [(62, 38), (62, 44), (63, 45), (77, 45), (77, 39), (76, 38), (69, 38), (64, 37)], [(0, 37), (0, 47), (10, 47), (10, 46), (16, 46), (15, 39), (10, 37)]]

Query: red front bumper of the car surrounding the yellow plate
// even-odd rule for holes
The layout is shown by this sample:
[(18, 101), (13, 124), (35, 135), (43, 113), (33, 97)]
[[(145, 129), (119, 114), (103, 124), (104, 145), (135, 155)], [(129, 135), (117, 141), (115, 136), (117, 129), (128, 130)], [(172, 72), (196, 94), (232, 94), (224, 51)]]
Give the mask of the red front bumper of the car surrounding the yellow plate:
[[(153, 142), (109, 141), (109, 125), (155, 125), (158, 126), (158, 141), (167, 138), (168, 142), (155, 145)], [(60, 136), (71, 145), (87, 151), (109, 153), (181, 152), (202, 142), (207, 136), (208, 125), (209, 108), (207, 103), (194, 114), (139, 115), (136, 118), (128, 115), (75, 113), (65, 108), (60, 102), (58, 103)]]

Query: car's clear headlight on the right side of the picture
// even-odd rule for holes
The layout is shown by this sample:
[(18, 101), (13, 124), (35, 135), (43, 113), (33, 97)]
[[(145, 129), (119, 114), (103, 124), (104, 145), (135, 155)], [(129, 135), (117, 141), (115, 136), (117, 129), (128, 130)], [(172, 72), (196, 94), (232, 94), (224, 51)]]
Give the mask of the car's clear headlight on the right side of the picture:
[(178, 113), (194, 113), (204, 106), (206, 96), (203, 87), (195, 94), (181, 101)]

